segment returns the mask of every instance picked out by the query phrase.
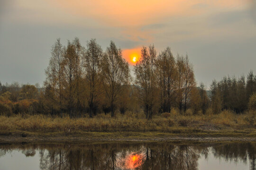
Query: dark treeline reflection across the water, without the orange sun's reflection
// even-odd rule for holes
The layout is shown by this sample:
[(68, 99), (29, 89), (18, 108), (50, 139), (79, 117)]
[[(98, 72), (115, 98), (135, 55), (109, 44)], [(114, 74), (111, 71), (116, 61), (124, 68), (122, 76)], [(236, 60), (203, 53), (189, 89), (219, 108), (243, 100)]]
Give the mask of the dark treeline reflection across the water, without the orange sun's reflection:
[[(144, 159), (137, 170), (197, 170), (201, 156), (210, 152), (216, 158), (227, 161), (250, 161), (255, 170), (256, 145), (240, 144), (24, 144), (0, 146), (3, 151), (18, 150), (26, 156), (34, 156), (39, 151), (42, 170), (120, 170), (125, 167), (127, 155), (137, 153)], [(33, 155), (34, 153), (34, 155)], [(3, 156), (3, 155), (2, 155)]]

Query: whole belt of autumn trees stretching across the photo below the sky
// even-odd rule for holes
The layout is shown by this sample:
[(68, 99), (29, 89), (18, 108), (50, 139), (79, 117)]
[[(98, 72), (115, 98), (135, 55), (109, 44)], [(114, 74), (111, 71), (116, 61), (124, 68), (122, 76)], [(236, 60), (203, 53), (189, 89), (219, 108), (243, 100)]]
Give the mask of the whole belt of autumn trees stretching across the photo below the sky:
[(128, 62), (114, 42), (105, 51), (95, 39), (83, 47), (79, 38), (51, 49), (43, 87), (0, 83), (0, 114), (69, 115), (94, 117), (105, 113), (143, 110), (146, 119), (178, 110), (181, 115), (243, 113), (256, 110), (256, 75), (225, 76), (212, 81), (210, 93), (197, 87), (188, 55), (174, 55), (167, 47), (157, 53), (154, 45), (142, 47), (130, 75)]

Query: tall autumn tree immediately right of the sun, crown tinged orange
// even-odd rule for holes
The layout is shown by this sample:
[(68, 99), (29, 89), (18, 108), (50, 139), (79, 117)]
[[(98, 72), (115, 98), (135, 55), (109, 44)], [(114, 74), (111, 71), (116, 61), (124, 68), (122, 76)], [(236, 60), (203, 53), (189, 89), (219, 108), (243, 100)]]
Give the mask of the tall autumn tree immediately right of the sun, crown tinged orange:
[(140, 59), (134, 66), (135, 84), (138, 86), (139, 97), (144, 106), (146, 119), (151, 119), (155, 105), (155, 47), (142, 47)]

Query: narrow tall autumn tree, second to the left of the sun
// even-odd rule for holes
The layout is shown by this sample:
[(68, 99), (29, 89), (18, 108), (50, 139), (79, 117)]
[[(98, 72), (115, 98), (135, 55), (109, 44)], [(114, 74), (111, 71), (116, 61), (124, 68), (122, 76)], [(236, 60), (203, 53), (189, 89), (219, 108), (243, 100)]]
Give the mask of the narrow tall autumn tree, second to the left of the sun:
[(102, 59), (102, 49), (95, 39), (87, 43), (87, 50), (84, 55), (84, 65), (86, 71), (85, 80), (88, 84), (87, 101), (89, 105), (89, 115), (92, 118), (92, 112), (96, 113), (96, 103), (99, 102), (100, 95), (100, 61)]

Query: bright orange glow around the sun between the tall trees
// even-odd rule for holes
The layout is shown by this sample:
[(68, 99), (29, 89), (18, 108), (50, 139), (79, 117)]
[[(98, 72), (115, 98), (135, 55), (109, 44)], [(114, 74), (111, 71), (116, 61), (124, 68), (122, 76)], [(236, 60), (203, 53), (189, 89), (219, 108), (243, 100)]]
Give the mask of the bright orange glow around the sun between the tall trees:
[(140, 56), (141, 48), (123, 50), (123, 57), (129, 64), (135, 65)]

